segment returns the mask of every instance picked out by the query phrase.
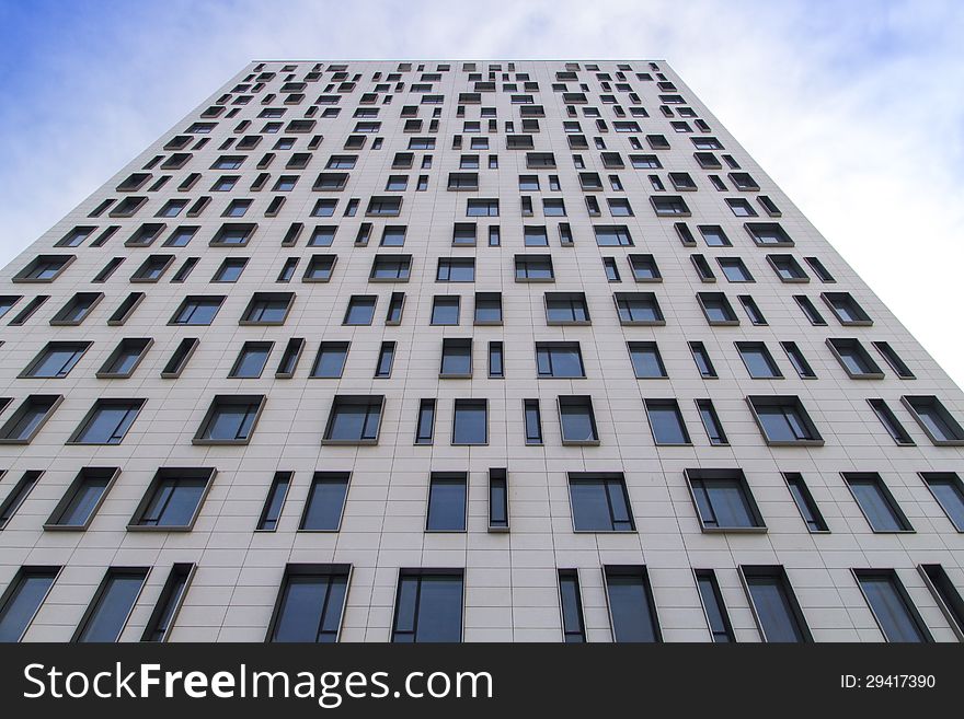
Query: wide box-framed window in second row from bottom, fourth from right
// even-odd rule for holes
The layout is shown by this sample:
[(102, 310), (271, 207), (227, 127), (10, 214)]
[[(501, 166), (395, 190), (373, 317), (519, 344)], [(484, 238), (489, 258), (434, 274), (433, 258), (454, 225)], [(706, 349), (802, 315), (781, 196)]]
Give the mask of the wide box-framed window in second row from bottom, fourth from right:
[(704, 532), (766, 531), (742, 469), (686, 469)]

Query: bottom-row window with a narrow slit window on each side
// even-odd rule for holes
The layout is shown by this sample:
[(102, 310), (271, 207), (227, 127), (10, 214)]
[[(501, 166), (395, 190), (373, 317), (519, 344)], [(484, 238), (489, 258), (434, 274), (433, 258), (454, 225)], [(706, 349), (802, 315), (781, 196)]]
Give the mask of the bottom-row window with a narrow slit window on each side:
[(644, 566), (602, 567), (613, 641), (663, 641)]

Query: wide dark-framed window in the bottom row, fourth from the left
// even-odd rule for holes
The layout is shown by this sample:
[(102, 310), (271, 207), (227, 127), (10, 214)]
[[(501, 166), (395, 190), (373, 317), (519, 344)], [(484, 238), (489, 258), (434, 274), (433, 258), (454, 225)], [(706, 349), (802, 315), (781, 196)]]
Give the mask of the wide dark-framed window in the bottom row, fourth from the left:
[(268, 625), (267, 640), (337, 641), (349, 572), (351, 565), (287, 565)]

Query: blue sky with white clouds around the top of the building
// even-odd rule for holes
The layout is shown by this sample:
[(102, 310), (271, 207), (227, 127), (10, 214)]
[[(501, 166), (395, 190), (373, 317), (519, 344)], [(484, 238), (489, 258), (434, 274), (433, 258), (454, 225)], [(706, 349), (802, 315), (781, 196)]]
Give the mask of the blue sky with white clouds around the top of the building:
[(964, 2), (0, 0), (0, 265), (254, 58), (665, 58), (959, 384)]

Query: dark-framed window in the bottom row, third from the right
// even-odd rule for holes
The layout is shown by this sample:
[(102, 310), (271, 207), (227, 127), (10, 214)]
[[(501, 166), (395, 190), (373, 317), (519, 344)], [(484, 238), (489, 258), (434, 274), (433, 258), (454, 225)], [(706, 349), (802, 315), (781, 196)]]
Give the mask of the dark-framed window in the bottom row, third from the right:
[(739, 573), (764, 641), (813, 641), (783, 567), (741, 565)]

